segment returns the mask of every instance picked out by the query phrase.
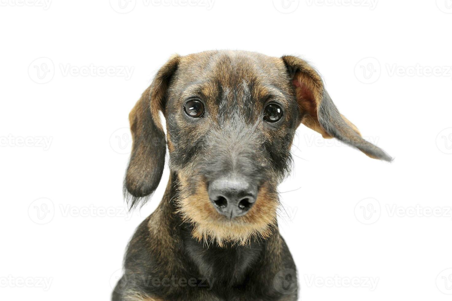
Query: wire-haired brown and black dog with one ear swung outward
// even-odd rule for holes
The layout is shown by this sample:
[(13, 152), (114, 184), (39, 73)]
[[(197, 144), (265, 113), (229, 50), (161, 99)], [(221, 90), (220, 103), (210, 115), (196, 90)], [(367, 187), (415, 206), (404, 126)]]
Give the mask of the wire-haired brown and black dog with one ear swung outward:
[(291, 170), (297, 127), (392, 160), (361, 137), (319, 73), (295, 56), (175, 55), (129, 119), (130, 207), (155, 191), (166, 148), (170, 178), (127, 247), (113, 301), (297, 300), (296, 267), (276, 219), (277, 187)]

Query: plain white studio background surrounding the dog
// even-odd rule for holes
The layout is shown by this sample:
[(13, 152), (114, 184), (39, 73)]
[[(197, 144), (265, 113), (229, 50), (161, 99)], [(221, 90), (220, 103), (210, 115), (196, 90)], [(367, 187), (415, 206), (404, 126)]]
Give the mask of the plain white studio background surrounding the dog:
[(126, 213), (129, 111), (171, 54), (244, 49), (312, 62), (395, 157), (298, 129), (279, 223), (300, 299), (450, 300), (451, 1), (163, 1), (0, 0), (0, 299), (109, 300), (168, 179)]

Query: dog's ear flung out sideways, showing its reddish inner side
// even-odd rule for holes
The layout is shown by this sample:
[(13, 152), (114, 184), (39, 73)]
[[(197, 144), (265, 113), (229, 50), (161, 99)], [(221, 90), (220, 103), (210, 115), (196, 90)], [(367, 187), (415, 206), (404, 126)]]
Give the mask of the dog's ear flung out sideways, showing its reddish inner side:
[(301, 111), (301, 123), (324, 138), (337, 138), (374, 159), (392, 161), (381, 148), (367, 142), (358, 129), (339, 110), (325, 90), (320, 75), (299, 57), (283, 56)]

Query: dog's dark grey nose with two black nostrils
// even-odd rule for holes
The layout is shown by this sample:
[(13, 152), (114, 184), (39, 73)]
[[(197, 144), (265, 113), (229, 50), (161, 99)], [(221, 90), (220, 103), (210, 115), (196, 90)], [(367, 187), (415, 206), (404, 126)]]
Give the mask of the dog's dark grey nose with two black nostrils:
[(256, 201), (257, 186), (240, 177), (222, 177), (209, 184), (208, 192), (217, 211), (232, 219), (250, 210)]

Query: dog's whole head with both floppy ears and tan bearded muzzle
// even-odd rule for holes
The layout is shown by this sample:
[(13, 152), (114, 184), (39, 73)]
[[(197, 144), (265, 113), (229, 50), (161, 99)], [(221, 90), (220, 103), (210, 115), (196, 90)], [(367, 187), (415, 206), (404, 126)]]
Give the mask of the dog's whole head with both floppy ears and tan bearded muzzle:
[(220, 245), (271, 233), (277, 186), (290, 170), (300, 123), (369, 157), (391, 160), (339, 113), (319, 74), (292, 56), (174, 56), (129, 117), (133, 148), (125, 191), (131, 205), (146, 200), (160, 182), (167, 145), (179, 183), (179, 213), (193, 223), (194, 237)]

